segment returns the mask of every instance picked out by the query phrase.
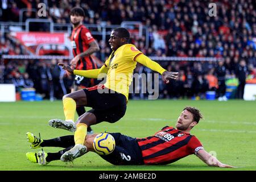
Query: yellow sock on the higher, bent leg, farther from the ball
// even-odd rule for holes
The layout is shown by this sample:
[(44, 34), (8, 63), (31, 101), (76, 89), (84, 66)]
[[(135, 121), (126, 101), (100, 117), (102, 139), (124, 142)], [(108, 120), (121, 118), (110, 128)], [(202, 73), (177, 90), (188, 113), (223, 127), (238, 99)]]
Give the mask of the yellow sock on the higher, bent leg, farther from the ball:
[(75, 120), (76, 101), (73, 98), (66, 97), (63, 100), (65, 120)]

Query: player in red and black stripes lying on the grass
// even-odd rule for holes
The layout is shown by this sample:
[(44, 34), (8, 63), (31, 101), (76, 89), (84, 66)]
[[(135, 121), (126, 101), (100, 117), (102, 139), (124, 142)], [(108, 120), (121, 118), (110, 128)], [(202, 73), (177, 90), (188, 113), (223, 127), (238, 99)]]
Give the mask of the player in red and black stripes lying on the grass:
[[(142, 164), (170, 164), (185, 156), (195, 154), (208, 166), (233, 167), (221, 163), (216, 157), (204, 150), (203, 145), (195, 136), (190, 134), (191, 129), (203, 118), (195, 107), (185, 107), (177, 119), (176, 129), (166, 126), (151, 137), (131, 138), (121, 133), (110, 133), (115, 139), (115, 149), (109, 155), (101, 155), (114, 165), (142, 165)], [(73, 135), (43, 140), (27, 133), (28, 142), (32, 148), (64, 147), (56, 153), (40, 151), (28, 152), (27, 159), (33, 163), (48, 164), (53, 160), (60, 160), (61, 155), (68, 151), (75, 142)], [(87, 151), (93, 151), (93, 140), (97, 134), (87, 135), (84, 145)], [(68, 147), (68, 148), (67, 148)]]

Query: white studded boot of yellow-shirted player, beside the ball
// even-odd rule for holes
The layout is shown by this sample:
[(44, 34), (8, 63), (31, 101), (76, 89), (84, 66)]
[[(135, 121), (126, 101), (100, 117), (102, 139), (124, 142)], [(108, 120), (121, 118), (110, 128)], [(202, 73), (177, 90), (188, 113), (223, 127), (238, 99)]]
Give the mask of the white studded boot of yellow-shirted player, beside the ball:
[(61, 155), (60, 160), (63, 162), (72, 162), (74, 159), (79, 158), (84, 155), (87, 151), (87, 148), (82, 144), (76, 144), (71, 150), (65, 152)]

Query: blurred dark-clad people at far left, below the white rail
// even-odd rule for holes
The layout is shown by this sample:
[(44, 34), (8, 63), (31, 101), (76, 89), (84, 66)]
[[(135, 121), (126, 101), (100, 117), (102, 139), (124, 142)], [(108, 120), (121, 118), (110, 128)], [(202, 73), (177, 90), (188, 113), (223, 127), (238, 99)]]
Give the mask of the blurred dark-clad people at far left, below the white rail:
[(14, 84), (16, 92), (24, 88), (35, 88), (36, 93), (49, 100), (61, 99), (71, 91), (73, 77), (61, 69), (57, 63), (64, 60), (13, 60), (5, 65), (3, 80)]

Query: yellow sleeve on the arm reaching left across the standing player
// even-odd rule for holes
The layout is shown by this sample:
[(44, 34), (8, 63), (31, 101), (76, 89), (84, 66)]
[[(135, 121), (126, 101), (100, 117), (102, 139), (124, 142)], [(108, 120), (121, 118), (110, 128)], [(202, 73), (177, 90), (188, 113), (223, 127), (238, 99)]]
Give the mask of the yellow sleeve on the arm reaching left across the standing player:
[[(100, 73), (108, 73), (108, 68), (106, 67), (105, 64), (100, 69), (89, 69), (89, 70), (74, 69), (74, 72), (73, 72), (74, 75), (80, 75), (86, 78), (98, 78), (98, 75), (100, 75)], [(102, 75), (99, 78), (103, 78), (103, 77), (104, 76)]]

